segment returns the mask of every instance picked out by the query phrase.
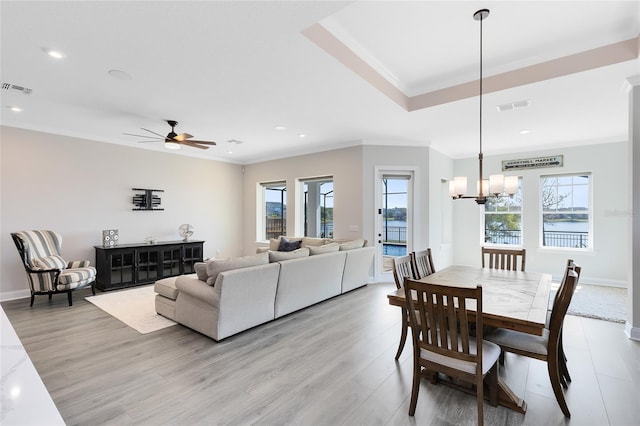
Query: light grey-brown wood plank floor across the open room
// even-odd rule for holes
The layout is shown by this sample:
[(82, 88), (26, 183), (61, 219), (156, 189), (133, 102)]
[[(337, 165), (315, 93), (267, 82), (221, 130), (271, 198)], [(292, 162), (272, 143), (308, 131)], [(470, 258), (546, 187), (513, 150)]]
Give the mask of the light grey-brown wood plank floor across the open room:
[[(69, 425), (450, 425), (475, 397), (423, 381), (408, 416), (411, 343), (394, 354), (395, 286), (373, 284), (220, 343), (181, 325), (141, 335), (83, 297), (2, 304)], [(501, 374), (526, 415), (485, 405), (488, 425), (639, 424), (640, 342), (623, 325), (568, 316), (565, 422), (546, 364), (508, 354)], [(34, 407), (34, 409), (37, 409)]]

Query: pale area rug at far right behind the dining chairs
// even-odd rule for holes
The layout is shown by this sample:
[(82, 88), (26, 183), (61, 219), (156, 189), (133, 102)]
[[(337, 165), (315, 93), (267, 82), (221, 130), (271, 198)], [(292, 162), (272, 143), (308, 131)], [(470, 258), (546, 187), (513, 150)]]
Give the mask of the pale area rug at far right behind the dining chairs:
[[(558, 284), (554, 283), (553, 300)], [(624, 323), (627, 319), (627, 289), (580, 284), (569, 304), (569, 315)]]

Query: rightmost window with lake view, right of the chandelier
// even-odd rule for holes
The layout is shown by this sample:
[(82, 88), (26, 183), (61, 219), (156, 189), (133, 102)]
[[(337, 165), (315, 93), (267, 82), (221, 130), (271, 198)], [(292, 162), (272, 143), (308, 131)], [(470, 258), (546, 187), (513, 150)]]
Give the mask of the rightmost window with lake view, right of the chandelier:
[(590, 248), (590, 179), (588, 173), (541, 176), (542, 245)]

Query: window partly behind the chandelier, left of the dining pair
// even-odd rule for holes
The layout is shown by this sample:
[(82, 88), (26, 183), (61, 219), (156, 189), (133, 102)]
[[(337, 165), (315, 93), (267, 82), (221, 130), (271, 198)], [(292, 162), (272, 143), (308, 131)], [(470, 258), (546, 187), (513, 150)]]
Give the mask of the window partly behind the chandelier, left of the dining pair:
[(522, 245), (522, 178), (513, 196), (487, 198), (483, 218), (485, 244)]

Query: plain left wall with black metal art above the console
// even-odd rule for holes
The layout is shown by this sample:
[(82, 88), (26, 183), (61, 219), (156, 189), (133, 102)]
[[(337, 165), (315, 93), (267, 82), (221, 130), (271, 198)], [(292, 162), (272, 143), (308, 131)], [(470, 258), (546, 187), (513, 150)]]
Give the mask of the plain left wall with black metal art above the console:
[[(12, 127), (0, 128), (0, 153), (1, 300), (28, 295), (14, 231), (55, 230), (65, 259), (94, 265), (103, 229), (122, 244), (172, 241), (190, 223), (205, 257), (241, 249), (241, 166)], [(165, 210), (132, 211), (131, 188), (164, 190)]]

